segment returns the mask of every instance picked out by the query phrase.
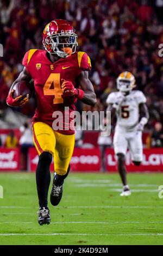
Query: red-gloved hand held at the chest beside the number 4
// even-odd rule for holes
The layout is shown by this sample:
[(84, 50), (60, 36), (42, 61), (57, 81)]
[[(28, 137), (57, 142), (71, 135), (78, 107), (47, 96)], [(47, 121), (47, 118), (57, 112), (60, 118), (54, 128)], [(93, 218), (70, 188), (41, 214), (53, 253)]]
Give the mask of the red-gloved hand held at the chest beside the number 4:
[(77, 99), (82, 100), (84, 97), (84, 91), (74, 88), (73, 83), (71, 81), (65, 81), (64, 79), (61, 80), (61, 88), (64, 97), (71, 97), (75, 96)]

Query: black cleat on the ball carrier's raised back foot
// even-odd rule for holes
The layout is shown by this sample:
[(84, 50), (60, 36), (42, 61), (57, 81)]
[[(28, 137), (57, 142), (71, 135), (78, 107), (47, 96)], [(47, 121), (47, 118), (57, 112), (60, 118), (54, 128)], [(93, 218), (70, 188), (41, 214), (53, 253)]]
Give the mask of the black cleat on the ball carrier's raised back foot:
[(52, 186), (52, 191), (51, 191), (51, 204), (56, 206), (59, 204), (61, 198), (62, 198), (62, 192), (63, 192), (63, 183), (61, 186), (55, 186), (55, 175), (53, 179), (53, 186)]

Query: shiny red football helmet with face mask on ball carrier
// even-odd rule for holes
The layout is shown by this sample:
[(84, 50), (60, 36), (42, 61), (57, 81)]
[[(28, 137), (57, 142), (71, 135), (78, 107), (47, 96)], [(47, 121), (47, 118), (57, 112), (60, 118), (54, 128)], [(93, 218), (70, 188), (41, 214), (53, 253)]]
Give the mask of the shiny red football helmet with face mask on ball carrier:
[(66, 20), (53, 20), (43, 30), (42, 44), (45, 50), (51, 54), (57, 54), (61, 58), (71, 56), (76, 52), (77, 34)]

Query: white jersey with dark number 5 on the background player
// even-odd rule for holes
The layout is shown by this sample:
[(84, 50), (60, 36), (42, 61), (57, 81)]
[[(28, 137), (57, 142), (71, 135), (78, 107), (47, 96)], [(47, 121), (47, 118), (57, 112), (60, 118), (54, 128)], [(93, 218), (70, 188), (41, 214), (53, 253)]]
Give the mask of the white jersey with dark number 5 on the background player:
[(106, 103), (114, 104), (121, 99), (120, 108), (116, 111), (116, 129), (134, 130), (139, 123), (139, 104), (146, 103), (146, 97), (140, 90), (133, 90), (127, 96), (114, 92), (109, 94)]

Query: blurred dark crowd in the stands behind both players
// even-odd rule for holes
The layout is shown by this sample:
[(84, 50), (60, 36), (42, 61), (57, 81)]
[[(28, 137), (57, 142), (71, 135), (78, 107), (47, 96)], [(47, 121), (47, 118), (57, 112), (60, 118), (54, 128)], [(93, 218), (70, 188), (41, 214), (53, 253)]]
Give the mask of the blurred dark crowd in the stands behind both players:
[[(72, 22), (78, 34), (78, 50), (91, 58), (90, 80), (97, 94), (92, 110), (106, 108), (105, 99), (116, 90), (116, 78), (132, 72), (137, 89), (147, 97), (150, 119), (146, 129), (163, 124), (163, 0), (1, 0), (0, 118), (12, 82), (22, 70), (24, 53), (42, 48), (42, 31), (53, 19)], [(89, 106), (78, 106), (80, 110)], [(16, 111), (31, 117), (35, 100)], [(162, 127), (161, 127), (162, 129)]]

